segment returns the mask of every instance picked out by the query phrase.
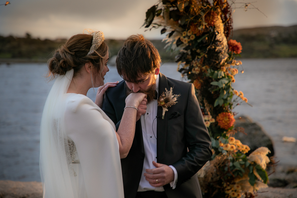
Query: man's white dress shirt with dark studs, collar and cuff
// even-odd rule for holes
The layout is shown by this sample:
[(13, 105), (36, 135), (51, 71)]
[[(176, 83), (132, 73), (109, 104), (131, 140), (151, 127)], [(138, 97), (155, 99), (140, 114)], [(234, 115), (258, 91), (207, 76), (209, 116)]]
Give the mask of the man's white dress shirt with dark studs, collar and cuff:
[[(156, 78), (156, 91), (159, 89), (159, 75), (155, 75)], [(145, 158), (143, 162), (142, 175), (138, 186), (138, 192), (140, 191), (164, 191), (163, 187), (156, 188), (151, 186), (145, 179), (144, 173), (146, 169), (156, 168), (153, 165), (153, 161), (157, 162), (157, 100), (153, 100), (147, 105), (146, 113), (140, 117), (142, 135), (143, 135), (143, 146)], [(170, 186), (174, 189), (177, 182), (177, 171), (173, 166), (169, 166), (174, 172), (174, 181), (170, 182)]]

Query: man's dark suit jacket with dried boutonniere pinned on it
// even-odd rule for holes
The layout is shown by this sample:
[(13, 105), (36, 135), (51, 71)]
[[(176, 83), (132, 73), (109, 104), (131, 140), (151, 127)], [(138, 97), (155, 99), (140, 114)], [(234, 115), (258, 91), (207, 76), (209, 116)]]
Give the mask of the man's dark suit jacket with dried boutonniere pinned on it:
[[(196, 173), (211, 158), (211, 139), (195, 96), (193, 84), (167, 78), (160, 73), (159, 95), (173, 87), (180, 94), (178, 103), (168, 108), (162, 119), (162, 107), (157, 109), (157, 162), (172, 165), (178, 174), (177, 186), (163, 186), (168, 198), (201, 197)], [(103, 111), (118, 129), (124, 113), (125, 81), (105, 93)], [(189, 152), (187, 152), (187, 148)], [(125, 198), (135, 198), (144, 161), (141, 122), (136, 122), (135, 137), (126, 158), (121, 159)]]

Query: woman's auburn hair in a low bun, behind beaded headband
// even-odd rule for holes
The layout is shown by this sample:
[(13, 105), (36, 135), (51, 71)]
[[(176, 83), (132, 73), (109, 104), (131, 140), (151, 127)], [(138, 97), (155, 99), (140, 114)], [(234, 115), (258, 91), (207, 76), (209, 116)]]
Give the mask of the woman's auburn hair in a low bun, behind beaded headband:
[(102, 72), (103, 59), (108, 52), (108, 46), (103, 41), (92, 54), (88, 55), (92, 41), (93, 36), (90, 34), (76, 34), (69, 38), (64, 45), (54, 51), (53, 57), (48, 60), (48, 76), (55, 78), (73, 69), (73, 77), (75, 77), (87, 62), (94, 65), (92, 73)]

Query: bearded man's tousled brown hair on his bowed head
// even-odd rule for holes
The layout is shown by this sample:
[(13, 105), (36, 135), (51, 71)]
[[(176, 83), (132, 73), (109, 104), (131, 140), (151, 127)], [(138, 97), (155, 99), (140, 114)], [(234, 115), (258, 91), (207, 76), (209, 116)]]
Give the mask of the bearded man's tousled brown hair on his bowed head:
[(121, 77), (136, 82), (140, 76), (160, 67), (161, 58), (153, 43), (137, 34), (128, 37), (116, 57), (116, 68)]

